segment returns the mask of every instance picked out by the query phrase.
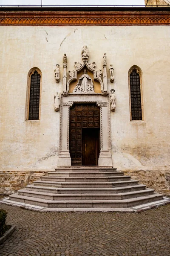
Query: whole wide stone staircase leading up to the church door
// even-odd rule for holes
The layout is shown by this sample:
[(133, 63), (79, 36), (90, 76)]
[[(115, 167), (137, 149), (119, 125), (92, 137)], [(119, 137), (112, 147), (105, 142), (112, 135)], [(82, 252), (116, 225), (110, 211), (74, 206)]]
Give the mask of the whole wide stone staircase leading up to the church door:
[(163, 195), (124, 176), (113, 167), (60, 167), (20, 189), (6, 201), (36, 205), (44, 209), (129, 209), (163, 202)]

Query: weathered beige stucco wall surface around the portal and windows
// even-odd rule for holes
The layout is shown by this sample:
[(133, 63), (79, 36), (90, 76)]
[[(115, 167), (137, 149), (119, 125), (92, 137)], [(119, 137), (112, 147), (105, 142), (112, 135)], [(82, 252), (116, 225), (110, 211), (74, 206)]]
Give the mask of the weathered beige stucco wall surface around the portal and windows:
[[(55, 65), (81, 60), (113, 64), (116, 111), (111, 113), (113, 166), (122, 170), (170, 170), (170, 26), (0, 26), (0, 169), (54, 169), (58, 160), (59, 112), (54, 111)], [(144, 121), (130, 121), (128, 70), (141, 68)], [(42, 71), (40, 121), (25, 121), (27, 74)]]

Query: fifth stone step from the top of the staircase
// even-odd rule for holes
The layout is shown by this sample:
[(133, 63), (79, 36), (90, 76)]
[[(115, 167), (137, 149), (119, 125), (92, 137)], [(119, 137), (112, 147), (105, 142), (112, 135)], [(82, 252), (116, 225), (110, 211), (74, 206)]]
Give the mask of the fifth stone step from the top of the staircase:
[(145, 189), (146, 186), (142, 184), (134, 185), (134, 186), (121, 186), (115, 188), (55, 188), (55, 187), (48, 187), (48, 186), (34, 186), (34, 185), (27, 185), (26, 190), (29, 191), (37, 191), (37, 192), (46, 192), (46, 193), (54, 193), (54, 194), (83, 194), (83, 193), (124, 193), (124, 192), (133, 192)]

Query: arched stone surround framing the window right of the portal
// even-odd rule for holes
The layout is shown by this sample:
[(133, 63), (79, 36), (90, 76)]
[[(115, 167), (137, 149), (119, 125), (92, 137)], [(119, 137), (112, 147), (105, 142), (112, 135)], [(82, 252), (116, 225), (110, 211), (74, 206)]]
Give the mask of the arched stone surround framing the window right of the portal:
[[(133, 73), (133, 71), (136, 71), (136, 74), (139, 75), (139, 82), (140, 82), (140, 100), (141, 100), (141, 113), (142, 113), (142, 118), (136, 119), (136, 120), (142, 120), (144, 121), (144, 105), (143, 105), (143, 73), (140, 67), (137, 65), (133, 65), (130, 67), (128, 71), (128, 83), (129, 83), (129, 106), (130, 106), (130, 120), (134, 120), (132, 117), (132, 102), (131, 102), (131, 93), (130, 93), (130, 75)], [(131, 85), (132, 86), (132, 85)], [(138, 89), (139, 89), (138, 88)], [(138, 91), (139, 93), (139, 91)]]

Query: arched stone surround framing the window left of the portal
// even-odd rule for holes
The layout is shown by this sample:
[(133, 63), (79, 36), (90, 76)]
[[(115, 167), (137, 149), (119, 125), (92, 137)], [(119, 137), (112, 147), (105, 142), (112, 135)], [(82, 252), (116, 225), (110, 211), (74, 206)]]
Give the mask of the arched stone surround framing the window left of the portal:
[(29, 104), (30, 104), (30, 88), (31, 88), (31, 76), (34, 72), (37, 72), (40, 75), (40, 102), (39, 102), (39, 117), (40, 120), (40, 108), (41, 108), (41, 87), (42, 87), (42, 72), (38, 67), (33, 67), (29, 70), (27, 76), (27, 89), (26, 89), (26, 111), (25, 111), (25, 120), (29, 120)]

